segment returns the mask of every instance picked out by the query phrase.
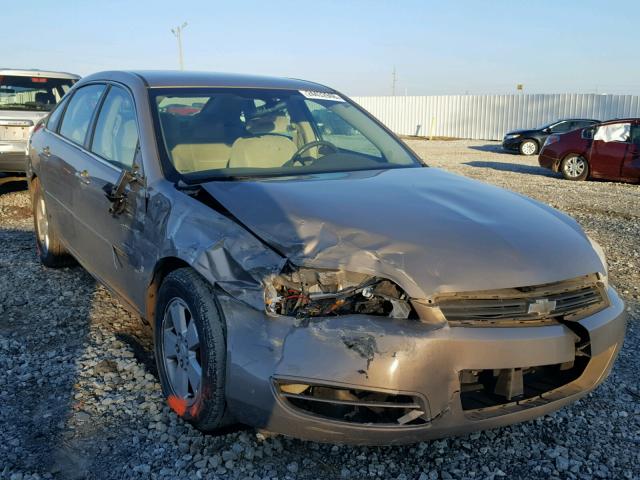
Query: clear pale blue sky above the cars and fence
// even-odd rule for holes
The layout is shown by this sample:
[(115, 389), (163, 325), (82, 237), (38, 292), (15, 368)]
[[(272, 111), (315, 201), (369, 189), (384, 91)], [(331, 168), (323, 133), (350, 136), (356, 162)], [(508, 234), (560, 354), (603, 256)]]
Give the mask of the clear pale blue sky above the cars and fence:
[[(609, 6), (611, 5), (611, 6)], [(0, 67), (303, 78), (352, 96), (640, 94), (640, 2), (30, 0), (2, 6)]]

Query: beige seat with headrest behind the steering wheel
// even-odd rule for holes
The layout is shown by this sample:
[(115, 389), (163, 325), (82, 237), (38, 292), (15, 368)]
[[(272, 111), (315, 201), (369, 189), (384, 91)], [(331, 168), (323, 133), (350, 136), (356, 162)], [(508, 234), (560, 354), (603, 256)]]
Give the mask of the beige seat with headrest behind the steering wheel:
[(239, 138), (231, 146), (229, 167), (281, 167), (298, 150), (293, 140), (276, 132), (289, 132), (284, 115), (259, 117), (249, 121), (247, 130), (254, 136)]

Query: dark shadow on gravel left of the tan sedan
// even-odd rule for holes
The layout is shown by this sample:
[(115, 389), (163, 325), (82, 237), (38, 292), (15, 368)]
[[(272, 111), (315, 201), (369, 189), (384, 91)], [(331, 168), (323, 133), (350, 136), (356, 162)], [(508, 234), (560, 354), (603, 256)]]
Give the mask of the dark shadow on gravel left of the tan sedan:
[(67, 437), (83, 411), (77, 359), (87, 347), (95, 282), (79, 267), (44, 269), (33, 231), (2, 227), (0, 244), (0, 356), (11, 359), (0, 389), (2, 468), (84, 478), (86, 461)]

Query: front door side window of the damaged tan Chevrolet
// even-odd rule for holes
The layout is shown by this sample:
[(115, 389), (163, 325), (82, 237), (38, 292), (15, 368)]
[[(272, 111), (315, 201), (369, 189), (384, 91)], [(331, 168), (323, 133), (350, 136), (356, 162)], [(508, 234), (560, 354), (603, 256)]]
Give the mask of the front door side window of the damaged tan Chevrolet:
[(91, 151), (110, 163), (130, 169), (137, 146), (133, 99), (124, 89), (111, 87), (100, 109)]

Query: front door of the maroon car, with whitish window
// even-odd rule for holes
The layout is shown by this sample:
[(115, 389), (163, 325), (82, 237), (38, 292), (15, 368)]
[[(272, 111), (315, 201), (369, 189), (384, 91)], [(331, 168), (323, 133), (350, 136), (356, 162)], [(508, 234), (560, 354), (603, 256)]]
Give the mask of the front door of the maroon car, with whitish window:
[(591, 175), (599, 178), (620, 177), (630, 135), (629, 122), (600, 125), (597, 128), (589, 153)]

